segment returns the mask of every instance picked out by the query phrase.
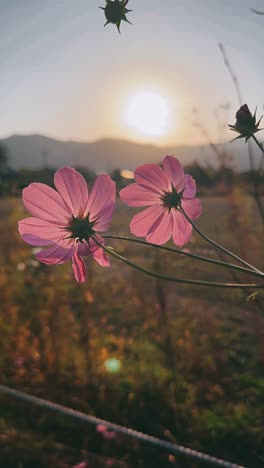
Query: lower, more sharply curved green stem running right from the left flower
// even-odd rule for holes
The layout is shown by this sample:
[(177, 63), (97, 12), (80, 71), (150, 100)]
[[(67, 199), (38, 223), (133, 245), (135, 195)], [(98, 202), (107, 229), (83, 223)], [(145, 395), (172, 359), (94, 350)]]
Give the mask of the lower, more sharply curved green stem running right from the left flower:
[(121, 262), (125, 263), (126, 265), (132, 268), (135, 268), (135, 270), (138, 270), (141, 273), (145, 273), (146, 275), (152, 276), (154, 278), (160, 278), (160, 279), (164, 279), (167, 281), (172, 281), (174, 283), (191, 284), (192, 286), (209, 286), (209, 287), (214, 287), (214, 288), (233, 288), (233, 289), (248, 289), (248, 288), (264, 289), (264, 283), (263, 284), (215, 283), (215, 282), (210, 282), (210, 281), (175, 278), (174, 276), (168, 276), (168, 275), (163, 275), (160, 273), (155, 273), (151, 270), (147, 270), (146, 268), (143, 268), (137, 265), (136, 263), (131, 262), (130, 260), (118, 254), (114, 250), (108, 247), (105, 247), (101, 242), (98, 241), (98, 239), (95, 236), (92, 236), (92, 239), (97, 245), (99, 245), (99, 247), (101, 247), (105, 252), (107, 252), (112, 257), (115, 257)]

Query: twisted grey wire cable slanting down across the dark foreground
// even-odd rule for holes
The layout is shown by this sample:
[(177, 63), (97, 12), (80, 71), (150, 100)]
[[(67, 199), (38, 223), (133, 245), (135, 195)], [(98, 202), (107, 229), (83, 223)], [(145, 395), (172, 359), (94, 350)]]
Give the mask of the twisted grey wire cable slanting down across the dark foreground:
[(22, 400), (32, 405), (45, 408), (49, 411), (62, 414), (76, 421), (80, 421), (80, 422), (84, 422), (88, 424), (94, 424), (94, 425), (102, 424), (110, 430), (119, 432), (120, 434), (124, 434), (134, 439), (138, 439), (142, 442), (152, 444), (156, 447), (160, 447), (162, 449), (165, 449), (166, 451), (169, 451), (170, 453), (181, 454), (186, 457), (196, 459), (201, 462), (214, 465), (214, 466), (221, 466), (221, 467), (226, 467), (226, 468), (245, 468), (242, 465), (236, 465), (234, 463), (221, 460), (220, 458), (212, 457), (211, 455), (197, 452), (196, 450), (192, 450), (190, 448), (183, 447), (181, 445), (174, 444), (172, 442), (168, 442), (166, 440), (162, 440), (162, 439), (159, 439), (157, 437), (154, 437), (148, 434), (144, 434), (143, 432), (138, 432), (134, 429), (130, 429), (125, 426), (120, 426), (119, 424), (105, 421), (104, 419), (100, 419), (89, 414), (84, 414), (72, 408), (67, 408), (66, 406), (59, 405), (58, 403), (53, 403), (49, 400), (45, 400), (43, 398), (39, 398), (39, 397), (30, 395), (28, 393), (21, 392), (19, 390), (15, 390), (5, 385), (0, 385), (0, 393), (8, 395), (9, 397), (15, 398), (17, 400)]

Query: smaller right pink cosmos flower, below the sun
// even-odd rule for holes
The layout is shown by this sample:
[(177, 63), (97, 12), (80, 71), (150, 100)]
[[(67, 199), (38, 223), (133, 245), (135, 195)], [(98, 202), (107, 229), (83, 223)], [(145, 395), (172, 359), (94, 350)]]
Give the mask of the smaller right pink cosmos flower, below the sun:
[(181, 211), (191, 219), (202, 212), (196, 195), (194, 179), (184, 174), (178, 159), (166, 156), (162, 167), (143, 164), (135, 170), (135, 184), (120, 191), (121, 200), (129, 206), (148, 206), (132, 219), (131, 233), (146, 237), (153, 244), (165, 244), (171, 236), (178, 246), (185, 245), (192, 236), (192, 225)]

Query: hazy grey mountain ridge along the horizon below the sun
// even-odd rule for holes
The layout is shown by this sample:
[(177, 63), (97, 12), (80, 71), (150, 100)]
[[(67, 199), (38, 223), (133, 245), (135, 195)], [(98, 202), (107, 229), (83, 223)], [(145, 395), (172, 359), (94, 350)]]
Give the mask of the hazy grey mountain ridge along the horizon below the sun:
[[(96, 141), (60, 140), (41, 134), (14, 134), (2, 139), (8, 150), (9, 165), (13, 169), (54, 168), (65, 165), (83, 166), (95, 172), (111, 172), (114, 169), (134, 170), (144, 163), (156, 163), (166, 154), (173, 154), (184, 165), (198, 161), (217, 166), (216, 152), (210, 144), (167, 145), (138, 143), (126, 139), (102, 138)], [(232, 166), (237, 171), (249, 168), (247, 145), (243, 142), (216, 144), (217, 151), (232, 155)]]

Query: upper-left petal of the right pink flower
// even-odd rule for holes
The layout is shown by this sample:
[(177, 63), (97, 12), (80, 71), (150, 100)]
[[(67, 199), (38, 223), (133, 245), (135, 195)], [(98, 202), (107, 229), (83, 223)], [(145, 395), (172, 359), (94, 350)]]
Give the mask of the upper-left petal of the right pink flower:
[(170, 189), (168, 178), (157, 164), (143, 164), (135, 170), (135, 181), (157, 194), (163, 194)]

